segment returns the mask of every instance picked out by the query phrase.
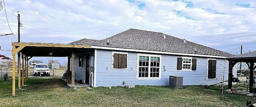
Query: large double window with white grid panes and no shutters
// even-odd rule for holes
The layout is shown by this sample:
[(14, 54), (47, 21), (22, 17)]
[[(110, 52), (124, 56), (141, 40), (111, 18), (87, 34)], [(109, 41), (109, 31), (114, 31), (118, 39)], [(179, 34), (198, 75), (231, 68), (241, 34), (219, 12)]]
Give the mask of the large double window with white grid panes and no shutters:
[(161, 56), (138, 54), (138, 78), (160, 78)]

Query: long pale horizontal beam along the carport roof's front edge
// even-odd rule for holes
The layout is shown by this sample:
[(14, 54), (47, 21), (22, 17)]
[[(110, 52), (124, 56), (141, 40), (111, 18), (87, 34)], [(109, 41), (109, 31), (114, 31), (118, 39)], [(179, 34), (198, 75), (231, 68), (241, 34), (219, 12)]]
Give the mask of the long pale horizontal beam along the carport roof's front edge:
[(12, 43), (12, 46), (91, 48), (90, 45), (69, 45), (69, 44), (53, 44), (53, 43)]

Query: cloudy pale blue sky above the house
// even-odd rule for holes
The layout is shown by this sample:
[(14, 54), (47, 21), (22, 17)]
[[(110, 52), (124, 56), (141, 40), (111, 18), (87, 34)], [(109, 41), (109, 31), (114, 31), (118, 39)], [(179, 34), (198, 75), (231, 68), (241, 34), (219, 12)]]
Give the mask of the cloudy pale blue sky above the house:
[[(256, 51), (256, 0), (0, 0), (0, 54), (11, 42), (102, 40), (130, 28), (165, 33), (231, 54)], [(6, 12), (5, 12), (6, 10)], [(6, 19), (8, 18), (8, 21)], [(10, 27), (9, 27), (10, 26)], [(31, 60), (48, 57), (34, 57)], [(54, 58), (66, 60), (66, 58)]]

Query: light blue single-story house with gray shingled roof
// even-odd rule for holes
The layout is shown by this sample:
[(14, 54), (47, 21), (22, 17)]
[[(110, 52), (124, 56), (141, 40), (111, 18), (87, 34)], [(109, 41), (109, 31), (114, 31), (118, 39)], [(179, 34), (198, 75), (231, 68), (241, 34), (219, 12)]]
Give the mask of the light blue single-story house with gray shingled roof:
[[(216, 84), (222, 77), (228, 80), (225, 58), (233, 56), (164, 33), (138, 29), (69, 45), (91, 46), (76, 51), (74, 69), (75, 80), (93, 87), (168, 86), (169, 76), (183, 76), (183, 85)], [(236, 68), (233, 74), (236, 76)]]

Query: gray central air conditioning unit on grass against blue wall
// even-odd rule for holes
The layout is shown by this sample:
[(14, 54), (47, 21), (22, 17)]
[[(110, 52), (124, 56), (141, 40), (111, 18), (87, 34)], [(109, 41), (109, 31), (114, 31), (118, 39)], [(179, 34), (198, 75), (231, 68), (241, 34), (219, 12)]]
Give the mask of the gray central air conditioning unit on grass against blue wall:
[(183, 77), (182, 76), (169, 76), (169, 88), (182, 88)]

